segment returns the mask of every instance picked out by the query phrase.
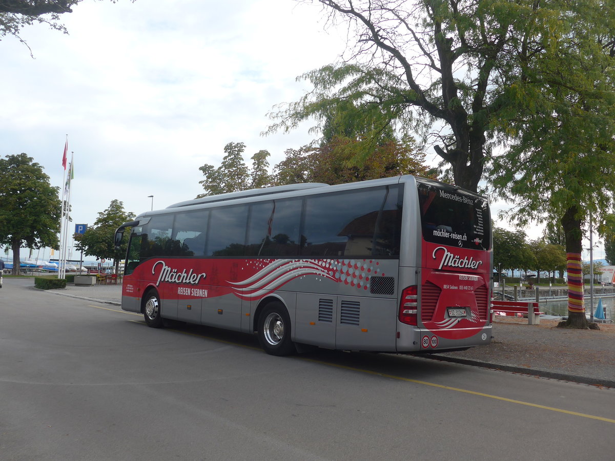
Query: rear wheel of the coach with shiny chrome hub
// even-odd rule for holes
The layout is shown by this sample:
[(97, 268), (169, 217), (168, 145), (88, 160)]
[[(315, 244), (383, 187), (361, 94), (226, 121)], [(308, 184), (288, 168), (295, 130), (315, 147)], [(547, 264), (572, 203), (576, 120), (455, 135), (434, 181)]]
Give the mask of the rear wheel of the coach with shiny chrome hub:
[(258, 342), (271, 355), (290, 355), (295, 344), (290, 340), (290, 317), (281, 302), (266, 305), (258, 320)]

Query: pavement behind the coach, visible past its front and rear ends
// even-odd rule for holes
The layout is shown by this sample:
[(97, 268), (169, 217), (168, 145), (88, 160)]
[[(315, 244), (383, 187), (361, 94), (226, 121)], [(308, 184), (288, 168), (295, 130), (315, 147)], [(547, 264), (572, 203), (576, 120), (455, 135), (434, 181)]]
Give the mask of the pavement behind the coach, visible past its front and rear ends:
[[(74, 286), (49, 290), (63, 296), (121, 304), (121, 285)], [(490, 345), (429, 355), (436, 360), (615, 388), (615, 325), (600, 331), (557, 328), (557, 320), (496, 317)]]

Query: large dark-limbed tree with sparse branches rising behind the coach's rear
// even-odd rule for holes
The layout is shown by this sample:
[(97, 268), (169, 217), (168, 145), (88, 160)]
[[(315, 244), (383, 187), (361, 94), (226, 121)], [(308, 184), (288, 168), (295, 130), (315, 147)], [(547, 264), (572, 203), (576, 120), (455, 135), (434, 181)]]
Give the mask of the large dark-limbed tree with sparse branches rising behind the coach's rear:
[[(307, 1), (307, 0), (306, 0)], [(490, 157), (488, 138), (514, 104), (522, 63), (539, 58), (558, 33), (544, 1), (311, 0), (328, 20), (351, 26), (341, 63), (301, 76), (314, 89), (282, 106), (269, 128), (290, 130), (347, 104), (379, 136), (392, 124), (418, 130), (456, 185), (476, 192)]]

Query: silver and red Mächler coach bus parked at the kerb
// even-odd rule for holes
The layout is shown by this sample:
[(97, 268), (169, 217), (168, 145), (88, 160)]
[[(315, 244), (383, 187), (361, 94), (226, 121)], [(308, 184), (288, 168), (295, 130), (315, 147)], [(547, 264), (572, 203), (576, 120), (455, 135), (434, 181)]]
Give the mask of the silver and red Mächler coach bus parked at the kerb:
[(188, 200), (117, 229), (122, 309), (256, 333), (273, 355), (488, 344), (490, 223), (480, 195), (409, 175)]

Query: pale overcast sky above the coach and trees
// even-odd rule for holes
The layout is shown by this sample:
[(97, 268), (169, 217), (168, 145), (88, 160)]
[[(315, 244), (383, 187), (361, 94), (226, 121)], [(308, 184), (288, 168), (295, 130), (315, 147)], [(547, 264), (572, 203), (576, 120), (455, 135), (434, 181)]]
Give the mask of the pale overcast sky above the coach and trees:
[(260, 133), (274, 105), (309, 90), (296, 77), (346, 45), (343, 26), (325, 30), (318, 6), (293, 0), (84, 0), (62, 22), (69, 34), (22, 30), (34, 58), (0, 41), (0, 156), (25, 152), (61, 186), (68, 134), (73, 224), (113, 199), (137, 215), (149, 195), (154, 209), (193, 199), (198, 168), (218, 166), (229, 142), (246, 144), (246, 160), (268, 150), (271, 165), (311, 142), (310, 124)]

